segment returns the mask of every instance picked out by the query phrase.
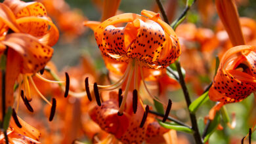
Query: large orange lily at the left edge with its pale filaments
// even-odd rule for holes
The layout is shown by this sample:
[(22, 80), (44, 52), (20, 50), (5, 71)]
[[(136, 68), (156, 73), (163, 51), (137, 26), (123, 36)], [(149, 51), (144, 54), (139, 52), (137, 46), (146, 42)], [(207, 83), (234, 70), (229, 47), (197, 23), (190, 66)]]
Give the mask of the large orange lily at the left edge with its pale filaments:
[[(51, 60), (53, 48), (50, 46), (53, 46), (58, 40), (58, 29), (47, 16), (45, 8), (37, 2), (25, 3), (19, 0), (7, 0), (0, 3), (0, 24), (0, 54), (2, 56), (4, 52), (7, 53), (6, 107), (12, 107), (14, 103), (15, 82), (18, 83), (18, 94), (21, 94), (24, 89), (24, 98), (27, 101), (32, 100), (29, 84), (31, 83), (38, 94), (49, 105), (52, 105), (39, 92), (32, 79), (32, 75), (43, 69)], [(18, 96), (19, 98), (20, 96)]]

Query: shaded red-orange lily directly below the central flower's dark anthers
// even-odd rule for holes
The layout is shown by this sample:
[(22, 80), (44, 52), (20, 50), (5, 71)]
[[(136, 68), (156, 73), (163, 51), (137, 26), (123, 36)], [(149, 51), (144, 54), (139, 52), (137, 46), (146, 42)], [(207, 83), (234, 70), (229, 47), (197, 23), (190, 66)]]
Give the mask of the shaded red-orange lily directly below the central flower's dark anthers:
[[(129, 92), (131, 95), (131, 92)], [(137, 113), (133, 113), (133, 99), (128, 97), (125, 111), (122, 116), (117, 115), (119, 109), (117, 93), (110, 93), (110, 99), (104, 101), (101, 107), (94, 107), (89, 115), (102, 128), (102, 130), (113, 134), (122, 143), (163, 143), (163, 134), (169, 130), (163, 128), (149, 115), (144, 126), (140, 127), (140, 120), (144, 110), (138, 105)]]

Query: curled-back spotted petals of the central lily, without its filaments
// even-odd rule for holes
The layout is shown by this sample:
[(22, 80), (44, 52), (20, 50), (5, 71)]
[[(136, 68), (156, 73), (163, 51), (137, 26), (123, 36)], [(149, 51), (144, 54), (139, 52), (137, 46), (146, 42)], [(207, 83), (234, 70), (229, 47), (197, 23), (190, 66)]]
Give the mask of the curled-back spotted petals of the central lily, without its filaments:
[[(95, 29), (98, 48), (117, 61), (138, 60), (146, 67), (160, 69), (175, 62), (180, 52), (177, 35), (159, 14), (142, 10), (142, 15), (119, 14)], [(115, 27), (127, 23), (125, 27)]]

